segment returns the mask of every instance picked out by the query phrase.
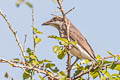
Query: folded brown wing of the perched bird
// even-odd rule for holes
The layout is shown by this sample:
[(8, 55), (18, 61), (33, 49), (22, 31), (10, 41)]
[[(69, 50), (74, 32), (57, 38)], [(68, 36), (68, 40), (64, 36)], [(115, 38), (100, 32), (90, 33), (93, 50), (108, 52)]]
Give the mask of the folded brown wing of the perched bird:
[(91, 46), (85, 37), (80, 33), (80, 31), (72, 24), (70, 26), (70, 38), (74, 41), (77, 41), (77, 43), (90, 55), (90, 57), (95, 59), (94, 51), (92, 50)]

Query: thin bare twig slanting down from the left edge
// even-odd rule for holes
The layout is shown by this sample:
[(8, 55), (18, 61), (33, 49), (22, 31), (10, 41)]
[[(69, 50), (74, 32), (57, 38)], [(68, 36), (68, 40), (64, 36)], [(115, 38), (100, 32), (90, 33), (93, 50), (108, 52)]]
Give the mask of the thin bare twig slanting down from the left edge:
[(20, 41), (19, 41), (19, 39), (18, 39), (18, 36), (17, 36), (16, 32), (15, 32), (14, 29), (12, 28), (12, 25), (11, 25), (10, 22), (8, 21), (6, 15), (4, 15), (1, 10), (0, 10), (0, 15), (1, 15), (1, 16), (5, 19), (5, 21), (7, 22), (8, 26), (9, 26), (9, 29), (10, 29), (11, 32), (13, 33), (13, 35), (14, 35), (14, 37), (15, 37), (15, 39), (16, 39), (16, 42), (17, 42), (17, 44), (18, 44), (18, 46), (19, 46), (19, 48), (20, 48), (20, 50), (21, 50), (22, 56), (23, 56), (23, 58), (25, 59), (24, 49), (23, 49), (23, 47), (21, 46), (21, 43), (20, 43)]

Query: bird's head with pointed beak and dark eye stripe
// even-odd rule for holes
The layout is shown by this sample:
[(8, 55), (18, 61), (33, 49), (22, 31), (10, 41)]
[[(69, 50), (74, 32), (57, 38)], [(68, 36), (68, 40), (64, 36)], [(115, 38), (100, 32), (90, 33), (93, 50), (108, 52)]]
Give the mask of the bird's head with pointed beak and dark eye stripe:
[(52, 19), (50, 19), (49, 21), (44, 22), (42, 25), (50, 25), (50, 26), (53, 26), (53, 27), (59, 29), (60, 26), (63, 25), (63, 22), (64, 22), (64, 20), (63, 20), (62, 16), (55, 16)]

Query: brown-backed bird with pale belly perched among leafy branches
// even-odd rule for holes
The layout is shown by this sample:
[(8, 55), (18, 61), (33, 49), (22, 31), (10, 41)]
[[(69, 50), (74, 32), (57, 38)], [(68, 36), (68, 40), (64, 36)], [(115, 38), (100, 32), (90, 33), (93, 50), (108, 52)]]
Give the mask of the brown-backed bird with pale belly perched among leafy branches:
[[(73, 56), (81, 59), (88, 59), (90, 61), (96, 61), (96, 57), (92, 47), (89, 45), (87, 39), (83, 34), (72, 24), (72, 22), (66, 18), (66, 24), (69, 25), (69, 37), (71, 41), (76, 41), (76, 45), (72, 45), (71, 53)], [(64, 25), (63, 16), (54, 16), (52, 19), (44, 22), (42, 25), (53, 26), (59, 31), (60, 37), (67, 38), (67, 31)], [(98, 63), (97, 63), (98, 64)]]

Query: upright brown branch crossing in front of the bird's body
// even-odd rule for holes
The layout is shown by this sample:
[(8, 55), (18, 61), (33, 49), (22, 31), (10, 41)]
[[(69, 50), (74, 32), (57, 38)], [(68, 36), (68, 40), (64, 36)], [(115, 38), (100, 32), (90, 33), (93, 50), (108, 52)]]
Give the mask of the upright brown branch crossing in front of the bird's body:
[[(64, 19), (64, 26), (66, 27), (67, 29), (67, 39), (68, 41), (70, 41), (70, 37), (69, 37), (69, 27), (70, 27), (70, 24), (67, 25), (67, 21), (66, 21), (66, 14), (63, 10), (63, 7), (62, 7), (62, 1), (60, 0), (57, 0), (58, 2), (58, 5), (59, 5), (59, 9), (62, 13), (62, 16), (63, 16), (63, 19)], [(71, 74), (71, 53), (70, 53), (70, 45), (68, 45), (68, 49), (67, 49), (67, 53), (68, 53), (68, 60), (67, 60), (67, 78), (70, 79), (70, 74)]]

